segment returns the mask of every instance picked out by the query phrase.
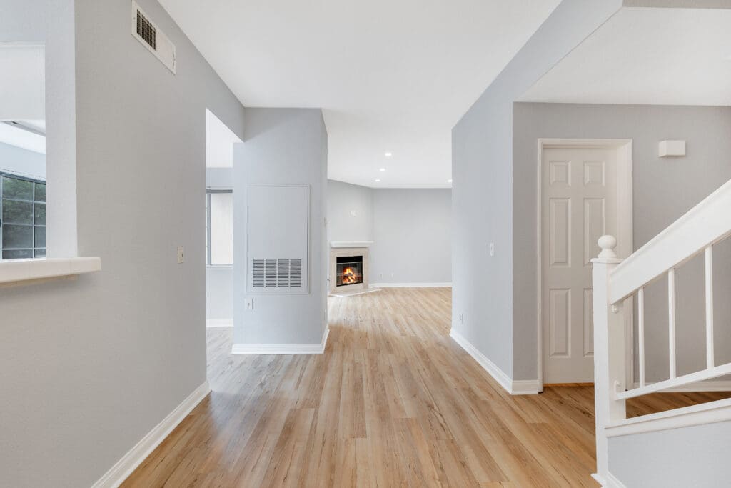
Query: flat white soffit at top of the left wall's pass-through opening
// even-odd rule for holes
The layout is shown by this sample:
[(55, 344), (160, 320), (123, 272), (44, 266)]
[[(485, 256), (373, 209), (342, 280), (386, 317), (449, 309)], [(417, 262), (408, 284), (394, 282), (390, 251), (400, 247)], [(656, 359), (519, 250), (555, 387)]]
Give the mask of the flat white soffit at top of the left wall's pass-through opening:
[(45, 119), (45, 49), (0, 42), (0, 120)]

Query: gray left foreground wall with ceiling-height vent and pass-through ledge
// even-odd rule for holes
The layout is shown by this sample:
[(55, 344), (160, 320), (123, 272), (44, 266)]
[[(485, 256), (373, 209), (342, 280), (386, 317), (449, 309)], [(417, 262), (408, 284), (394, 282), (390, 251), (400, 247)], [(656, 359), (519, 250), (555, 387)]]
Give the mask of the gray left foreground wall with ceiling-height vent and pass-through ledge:
[(242, 137), (243, 107), (162, 7), (140, 4), (177, 76), (130, 35), (129, 2), (2, 4), (1, 39), (48, 39), (61, 71), (47, 70), (49, 249), (75, 236), (51, 211), (75, 185), (79, 255), (102, 271), (0, 293), (1, 486), (90, 486), (205, 381), (205, 108)]

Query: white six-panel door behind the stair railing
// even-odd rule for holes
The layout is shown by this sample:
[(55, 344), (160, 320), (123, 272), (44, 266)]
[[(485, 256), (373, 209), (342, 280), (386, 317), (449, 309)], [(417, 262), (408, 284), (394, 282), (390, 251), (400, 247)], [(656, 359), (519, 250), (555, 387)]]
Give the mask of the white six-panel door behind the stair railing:
[(616, 235), (616, 149), (543, 149), (544, 383), (594, 381), (591, 258)]

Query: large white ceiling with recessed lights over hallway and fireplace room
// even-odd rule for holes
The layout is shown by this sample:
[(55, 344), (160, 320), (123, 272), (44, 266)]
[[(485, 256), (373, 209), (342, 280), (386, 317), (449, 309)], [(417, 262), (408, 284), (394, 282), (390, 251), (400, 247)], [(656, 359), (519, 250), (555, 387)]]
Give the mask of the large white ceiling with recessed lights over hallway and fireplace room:
[(452, 127), (559, 0), (161, 3), (244, 105), (323, 108), (331, 179), (449, 187)]

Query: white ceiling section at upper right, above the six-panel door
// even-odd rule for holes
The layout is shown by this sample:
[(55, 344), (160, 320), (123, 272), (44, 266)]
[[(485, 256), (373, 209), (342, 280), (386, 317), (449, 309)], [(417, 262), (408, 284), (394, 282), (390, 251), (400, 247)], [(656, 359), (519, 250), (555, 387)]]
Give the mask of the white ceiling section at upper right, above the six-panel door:
[(731, 105), (731, 10), (622, 9), (520, 100)]

